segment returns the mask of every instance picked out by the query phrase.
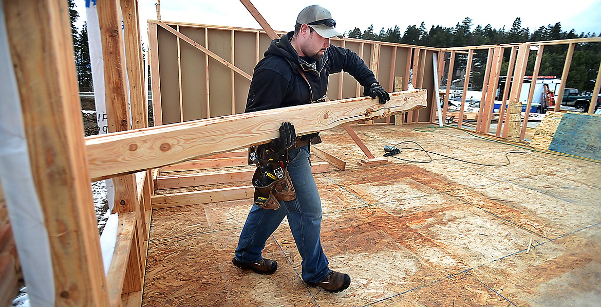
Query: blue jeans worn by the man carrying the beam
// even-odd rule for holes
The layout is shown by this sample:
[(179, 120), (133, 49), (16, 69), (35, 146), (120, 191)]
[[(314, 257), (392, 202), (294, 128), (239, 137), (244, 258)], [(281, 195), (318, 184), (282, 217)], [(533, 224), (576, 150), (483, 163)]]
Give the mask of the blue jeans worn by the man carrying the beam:
[(290, 231), (302, 257), (302, 279), (306, 282), (319, 282), (328, 276), (329, 262), (323, 253), (320, 239), (322, 202), (309, 159), (308, 146), (290, 150), (288, 173), (296, 191), (296, 199), (280, 201), (277, 210), (252, 205), (234, 254), (238, 261), (257, 262), (263, 259), (261, 251), (267, 238), (278, 228), (284, 216), (287, 216)]

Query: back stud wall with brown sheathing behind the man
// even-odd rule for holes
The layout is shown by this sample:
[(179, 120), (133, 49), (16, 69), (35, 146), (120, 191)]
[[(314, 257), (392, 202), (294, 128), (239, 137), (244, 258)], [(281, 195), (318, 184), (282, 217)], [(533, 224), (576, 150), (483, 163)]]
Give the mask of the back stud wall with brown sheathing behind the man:
[[(252, 78), (250, 74), (270, 43), (270, 37), (264, 31), (161, 20), (149, 20), (148, 28), (151, 49), (156, 50), (151, 56), (153, 75), (160, 76), (156, 78), (159, 80), (153, 78), (154, 113), (162, 119), (162, 124), (243, 113)], [(181, 41), (179, 48), (178, 40)], [(403, 81), (409, 79), (408, 70), (403, 71), (403, 59), (407, 54), (398, 51), (398, 47), (407, 45), (357, 39), (332, 39), (331, 43), (349, 48), (364, 58), (386, 89), (394, 87), (394, 76), (402, 76)], [(249, 54), (249, 49), (255, 51), (254, 56)], [(428, 51), (438, 49), (415, 48), (418, 60), (419, 54), (424, 58)], [(204, 64), (200, 60), (202, 57)], [(414, 66), (414, 78), (421, 78), (423, 84), (431, 84), (432, 72), (426, 68), (429, 64), (416, 61)], [(180, 87), (181, 91), (178, 90)], [(362, 95), (362, 89), (352, 76), (343, 73), (330, 78), (328, 93), (337, 99), (355, 98)], [(232, 103), (223, 104), (223, 101)], [(421, 114), (429, 114), (424, 112)], [(415, 111), (410, 121), (429, 120), (427, 116), (419, 119), (418, 114)], [(390, 123), (390, 120), (378, 119), (376, 123)]]

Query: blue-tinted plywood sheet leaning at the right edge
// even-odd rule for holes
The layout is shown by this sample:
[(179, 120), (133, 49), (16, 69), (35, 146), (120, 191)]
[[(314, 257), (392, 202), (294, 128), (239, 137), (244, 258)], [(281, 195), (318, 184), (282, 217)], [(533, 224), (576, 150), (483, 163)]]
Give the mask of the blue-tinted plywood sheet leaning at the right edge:
[(563, 114), (549, 150), (601, 161), (601, 116)]

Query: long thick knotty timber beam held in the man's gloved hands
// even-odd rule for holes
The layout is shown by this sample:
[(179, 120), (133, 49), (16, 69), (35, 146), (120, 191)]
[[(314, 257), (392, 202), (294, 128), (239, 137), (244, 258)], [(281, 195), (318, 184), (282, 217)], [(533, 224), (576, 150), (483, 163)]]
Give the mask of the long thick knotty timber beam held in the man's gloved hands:
[(426, 90), (400, 91), (386, 104), (342, 99), (90, 137), (90, 176), (96, 181), (266, 143), (279, 136), (283, 121), (304, 135), (425, 108), (426, 98)]

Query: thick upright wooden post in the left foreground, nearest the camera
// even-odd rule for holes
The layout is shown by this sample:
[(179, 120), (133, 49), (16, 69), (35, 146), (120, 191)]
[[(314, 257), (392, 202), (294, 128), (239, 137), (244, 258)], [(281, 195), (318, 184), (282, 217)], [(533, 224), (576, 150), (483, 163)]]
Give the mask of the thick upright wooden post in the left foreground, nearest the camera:
[[(55, 306), (107, 306), (66, 1), (2, 1)], [(4, 104), (5, 102), (2, 102)], [(35, 248), (35, 242), (29, 242)], [(38, 302), (40, 302), (38, 300)]]

